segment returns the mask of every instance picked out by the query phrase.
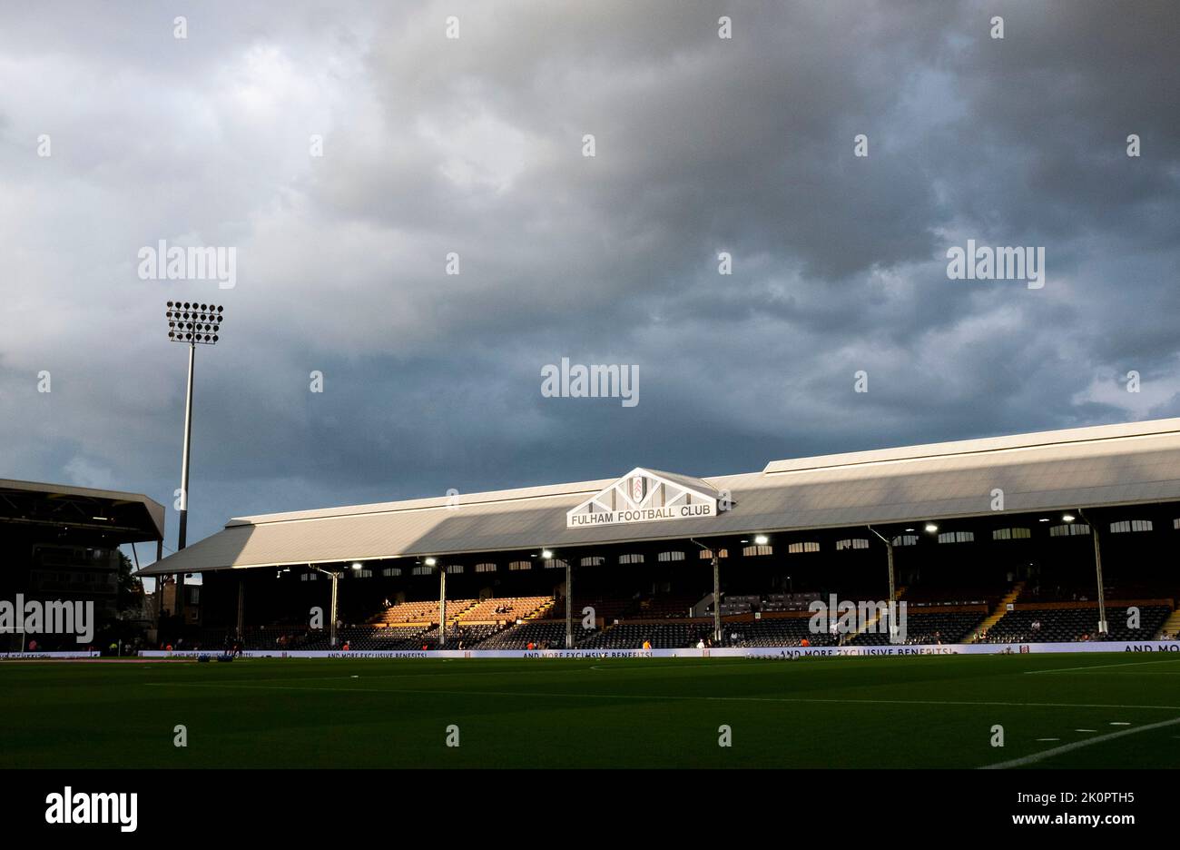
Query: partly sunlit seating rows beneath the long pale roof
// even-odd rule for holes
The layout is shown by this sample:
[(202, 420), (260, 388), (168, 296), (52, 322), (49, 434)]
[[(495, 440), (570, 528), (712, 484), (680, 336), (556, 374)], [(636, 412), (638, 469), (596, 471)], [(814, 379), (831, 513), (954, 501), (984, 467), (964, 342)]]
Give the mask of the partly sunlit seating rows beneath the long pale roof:
[[(1063, 602), (1047, 602), (1044, 587), (1037, 591), (1037, 584), (1027, 587), (1027, 582), (1004, 581), (1003, 574), (997, 580), (988, 582), (955, 582), (945, 573), (933, 575), (932, 581), (917, 581), (910, 576), (910, 583), (898, 587), (898, 597), (906, 603), (906, 645), (937, 645), (976, 642), (1068, 642), (1096, 639), (1096, 603), (1083, 599), (1087, 594), (1084, 582), (1074, 586), (1053, 581), (1050, 596), (1066, 596)], [(1113, 640), (1150, 640), (1171, 622), (1176, 609), (1174, 583), (1163, 577), (1143, 577), (1133, 574), (1134, 581), (1120, 577), (1109, 582), (1108, 621)], [(520, 577), (514, 577), (520, 578)], [(517, 581), (516, 587), (537, 587), (545, 574), (524, 576), (530, 581)], [(486, 580), (484, 580), (486, 581)], [(819, 581), (825, 581), (820, 576)], [(811, 630), (811, 606), (827, 602), (831, 594), (839, 600), (873, 600), (873, 590), (879, 587), (867, 584), (856, 576), (845, 581), (846, 587), (838, 593), (831, 586), (812, 586), (799, 590), (771, 590), (755, 593), (749, 581), (741, 593), (722, 596), (722, 638), (713, 638), (712, 617), (690, 616), (702, 597), (696, 594), (680, 593), (675, 589), (649, 587), (647, 591), (631, 593), (621, 589), (617, 594), (596, 589), (588, 593), (585, 601), (575, 599), (573, 604), (573, 646), (583, 649), (637, 649), (644, 641), (653, 648), (671, 649), (695, 647), (699, 641), (707, 646), (734, 647), (825, 647), (835, 643), (850, 646), (884, 646), (890, 642), (889, 635), (880, 625), (872, 621), (859, 634), (832, 635), (830, 632), (813, 633)], [(296, 586), (299, 587), (299, 586)], [(350, 583), (349, 589), (362, 589), (368, 586), (360, 582)], [(625, 586), (624, 586), (625, 588)], [(315, 587), (310, 588), (315, 590)], [(326, 588), (324, 588), (326, 589)], [(467, 586), (467, 589), (479, 589)], [(558, 590), (560, 588), (555, 588)], [(354, 591), (355, 593), (355, 591)], [(1074, 600), (1077, 593), (1080, 599)], [(1126, 602), (1134, 597), (1139, 602)], [(380, 599), (374, 591), (355, 604), (371, 606)], [(708, 599), (707, 596), (704, 599)], [(363, 604), (362, 604), (363, 602)], [(1125, 609), (1136, 604), (1141, 612), (1140, 628), (1128, 629)], [(595, 609), (595, 628), (582, 626), (583, 609)], [(358, 620), (363, 625), (346, 625), (339, 629), (339, 643), (346, 641), (354, 650), (419, 650), (439, 648), (439, 602), (435, 599), (426, 601), (406, 601), (399, 604), (376, 606), (378, 613), (365, 620), (360, 614)], [(1008, 610), (1011, 607), (1014, 610)], [(282, 610), (280, 606), (276, 613)], [(289, 610), (289, 608), (287, 609)], [(697, 608), (703, 610), (703, 608)], [(358, 614), (356, 610), (353, 613)], [(447, 640), (446, 648), (463, 649), (527, 649), (530, 645), (538, 649), (565, 647), (565, 600), (557, 593), (544, 594), (505, 594), (483, 600), (466, 597), (447, 601)], [(1173, 616), (1180, 626), (1180, 616)], [(1034, 628), (1034, 623), (1038, 623)], [(1176, 627), (1173, 627), (1176, 630)], [(227, 629), (203, 630), (201, 641), (205, 646), (221, 647)], [(264, 627), (248, 628), (242, 640), (248, 649), (328, 649), (327, 632), (310, 632), (304, 625), (275, 621)]]

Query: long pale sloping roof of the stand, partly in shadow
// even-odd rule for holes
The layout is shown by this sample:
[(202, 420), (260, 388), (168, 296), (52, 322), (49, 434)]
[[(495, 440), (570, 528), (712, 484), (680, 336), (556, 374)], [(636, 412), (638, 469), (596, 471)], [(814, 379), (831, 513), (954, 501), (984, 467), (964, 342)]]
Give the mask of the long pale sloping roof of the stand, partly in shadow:
[[(671, 490), (728, 497), (732, 508), (675, 522), (566, 527), (568, 512), (636, 475)], [(624, 479), (240, 517), (142, 574), (984, 516), (992, 515), (997, 488), (1005, 514), (1180, 501), (1180, 419), (774, 460), (743, 475), (691, 478), (640, 469)]]

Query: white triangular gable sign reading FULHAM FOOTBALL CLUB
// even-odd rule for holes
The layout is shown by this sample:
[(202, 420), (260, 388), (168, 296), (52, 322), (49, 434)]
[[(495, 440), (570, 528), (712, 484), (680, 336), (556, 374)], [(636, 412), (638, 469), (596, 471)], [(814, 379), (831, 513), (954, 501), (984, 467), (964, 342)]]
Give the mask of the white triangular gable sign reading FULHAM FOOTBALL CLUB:
[(717, 515), (717, 491), (700, 478), (637, 468), (565, 515), (566, 528), (701, 519)]

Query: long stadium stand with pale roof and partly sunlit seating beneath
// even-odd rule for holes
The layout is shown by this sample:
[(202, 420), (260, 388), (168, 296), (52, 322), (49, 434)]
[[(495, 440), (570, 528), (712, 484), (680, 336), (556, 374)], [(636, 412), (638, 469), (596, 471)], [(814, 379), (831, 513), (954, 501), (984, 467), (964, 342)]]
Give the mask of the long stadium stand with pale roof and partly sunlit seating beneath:
[[(1073, 477), (1062, 475), (1066, 457), (1077, 462)], [(989, 480), (1003, 472), (1022, 482), (1018, 510), (997, 514), (972, 501), (981, 464), (995, 470), (984, 476)], [(865, 484), (848, 488), (851, 479)], [(833, 595), (883, 601), (890, 587), (907, 606), (911, 642), (970, 643), (983, 634), (990, 641), (1093, 638), (1096, 581), (1109, 601), (1112, 638), (1149, 640), (1180, 628), (1180, 582), (1171, 561), (1180, 540), (1180, 419), (787, 458), (761, 472), (709, 479), (636, 469), (596, 493), (585, 485), (472, 493), (463, 499), (472, 510), (461, 516), (439, 498), (237, 517), (215, 535), (224, 545), (188, 547), (140, 574), (201, 576), (190, 586), (194, 594), (199, 589), (199, 610), (194, 599), (183, 620), (160, 626), (162, 634), (183, 633), (186, 643), (192, 628), (256, 625), (271, 629), (248, 630), (258, 646), (321, 646), (323, 635), (306, 630), (306, 616), (312, 608), (327, 610), (335, 589), (339, 621), (358, 629), (347, 634), (359, 647), (420, 648), (435, 640), (431, 629), (445, 587), (447, 646), (452, 636), (464, 647), (560, 646), (568, 590), (579, 627), (584, 609), (594, 609), (597, 630), (584, 635), (579, 628), (579, 643), (688, 646), (713, 626), (708, 545), (717, 555), (715, 613), (726, 633), (715, 642), (822, 645), (831, 636), (807, 628), (812, 603)], [(12, 484), (13, 504), (22, 488)], [(727, 492), (727, 511), (736, 509), (725, 522), (570, 524), (572, 515), (594, 512), (595, 499), (616, 504), (635, 488), (666, 504), (708, 503)], [(65, 493), (46, 493), (34, 501), (50, 521)], [(1102, 493), (1117, 493), (1117, 502), (1095, 502)], [(142, 514), (132, 502), (129, 510)], [(74, 503), (71, 523), (91, 504)], [(978, 506), (972, 516), (964, 515), (969, 504)], [(24, 514), (13, 509), (11, 519), (24, 527)], [(90, 516), (112, 515), (96, 508)], [(874, 516), (894, 521), (866, 527)], [(124, 518), (129, 527), (143, 519)], [(92, 530), (101, 535), (106, 527)], [(427, 549), (446, 551), (441, 571), (431, 561), (439, 552)], [(546, 549), (553, 557), (543, 556)], [(401, 554), (381, 554), (391, 551)], [(57, 587), (60, 573), (81, 571), (54, 565), (46, 560), (52, 555), (24, 570), (27, 581)], [(1127, 629), (1116, 609), (1135, 600), (1140, 628)], [(166, 607), (166, 591), (160, 602)], [(286, 623), (293, 616), (300, 626)], [(489, 628), (454, 630), (457, 625)], [(866, 629), (843, 640), (873, 646), (884, 638)]]

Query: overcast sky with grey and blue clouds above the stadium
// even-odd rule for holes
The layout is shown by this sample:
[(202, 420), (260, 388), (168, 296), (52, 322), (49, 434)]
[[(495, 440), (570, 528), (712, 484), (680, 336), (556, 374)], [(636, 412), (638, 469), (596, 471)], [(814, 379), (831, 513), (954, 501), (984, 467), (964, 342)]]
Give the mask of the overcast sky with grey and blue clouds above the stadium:
[[(171, 505), (169, 299), (228, 316), (190, 541), (1180, 416), (1176, 44), (1176, 2), (4, 4), (0, 477)], [(143, 280), (159, 240), (234, 288)], [(1043, 288), (949, 279), (968, 240)], [(638, 404), (544, 397), (563, 357)]]

